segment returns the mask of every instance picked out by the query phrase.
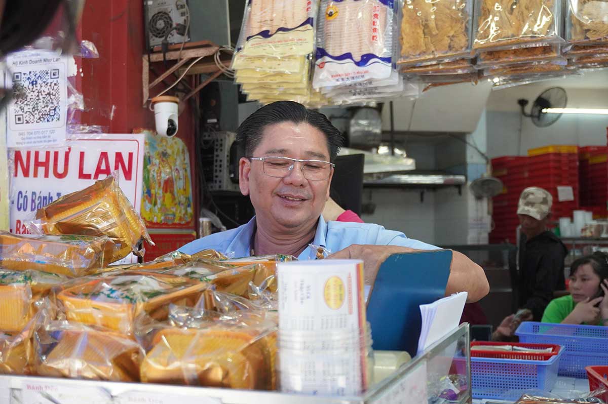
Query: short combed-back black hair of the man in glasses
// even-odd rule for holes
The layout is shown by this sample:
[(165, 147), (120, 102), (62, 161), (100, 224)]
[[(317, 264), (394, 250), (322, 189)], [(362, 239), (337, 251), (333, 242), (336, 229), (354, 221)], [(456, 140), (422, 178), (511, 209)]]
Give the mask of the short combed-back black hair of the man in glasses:
[(249, 115), (238, 127), (237, 142), (241, 152), (244, 152), (247, 157), (252, 157), (251, 153), (260, 144), (264, 129), (269, 125), (281, 122), (296, 124), (305, 122), (323, 132), (327, 140), (327, 148), (330, 151), (330, 161), (336, 158), (344, 142), (340, 131), (331, 125), (330, 120), (325, 115), (294, 101), (276, 101)]

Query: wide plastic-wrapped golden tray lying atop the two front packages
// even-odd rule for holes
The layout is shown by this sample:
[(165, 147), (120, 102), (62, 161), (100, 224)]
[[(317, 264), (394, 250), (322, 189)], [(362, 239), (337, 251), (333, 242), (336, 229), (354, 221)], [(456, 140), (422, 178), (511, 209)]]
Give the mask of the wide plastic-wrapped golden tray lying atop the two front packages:
[(204, 282), (162, 273), (132, 273), (83, 279), (57, 294), (67, 320), (133, 335), (134, 319), (145, 313), (167, 317), (168, 304), (193, 306), (207, 289)]

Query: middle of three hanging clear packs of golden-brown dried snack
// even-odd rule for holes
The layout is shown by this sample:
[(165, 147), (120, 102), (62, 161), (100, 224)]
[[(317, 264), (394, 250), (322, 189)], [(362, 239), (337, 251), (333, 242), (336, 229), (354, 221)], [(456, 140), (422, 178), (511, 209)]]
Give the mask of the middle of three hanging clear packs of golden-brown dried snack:
[(475, 50), (564, 42), (558, 0), (480, 0), (475, 7)]

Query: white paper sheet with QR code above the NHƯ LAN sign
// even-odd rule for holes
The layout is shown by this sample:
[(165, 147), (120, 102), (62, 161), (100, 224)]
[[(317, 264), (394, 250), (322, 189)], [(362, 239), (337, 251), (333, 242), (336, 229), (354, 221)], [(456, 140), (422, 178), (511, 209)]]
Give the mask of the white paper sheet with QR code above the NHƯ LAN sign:
[(26, 50), (7, 57), (15, 89), (8, 106), (9, 148), (65, 143), (66, 61), (55, 52), (43, 50)]

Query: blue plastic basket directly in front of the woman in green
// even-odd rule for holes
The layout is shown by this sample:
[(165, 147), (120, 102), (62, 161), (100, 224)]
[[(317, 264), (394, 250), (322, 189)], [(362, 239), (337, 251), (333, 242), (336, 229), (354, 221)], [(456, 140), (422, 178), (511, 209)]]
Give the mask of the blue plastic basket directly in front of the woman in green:
[(515, 335), (520, 342), (564, 347), (560, 376), (586, 378), (586, 366), (608, 364), (608, 327), (526, 322)]

